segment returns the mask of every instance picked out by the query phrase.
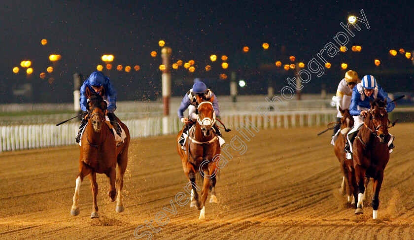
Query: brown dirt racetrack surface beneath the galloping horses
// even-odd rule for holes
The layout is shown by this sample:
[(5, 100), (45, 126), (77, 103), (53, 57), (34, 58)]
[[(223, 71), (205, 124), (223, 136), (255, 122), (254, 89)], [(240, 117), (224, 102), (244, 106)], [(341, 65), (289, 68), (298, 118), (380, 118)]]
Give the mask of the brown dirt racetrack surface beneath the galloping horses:
[[(339, 194), (342, 176), (330, 133), (324, 128), (261, 129), (234, 156), (217, 181), (218, 204), (199, 211), (170, 201), (187, 180), (175, 150), (175, 136), (135, 139), (129, 151), (123, 213), (109, 202), (106, 176), (98, 175), (99, 219), (90, 219), (89, 179), (80, 188), (80, 214), (70, 215), (79, 150), (76, 146), (0, 153), (0, 239), (414, 239), (414, 124), (397, 124), (394, 153), (380, 192), (379, 219), (354, 215)], [(236, 131), (226, 133), (229, 142)], [(368, 187), (371, 199), (372, 185)], [(207, 199), (208, 202), (208, 199)], [(175, 203), (175, 201), (173, 202)], [(155, 222), (163, 211), (169, 221)], [(164, 220), (166, 219), (164, 218)], [(159, 229), (158, 229), (159, 228)], [(147, 239), (143, 237), (142, 239)]]

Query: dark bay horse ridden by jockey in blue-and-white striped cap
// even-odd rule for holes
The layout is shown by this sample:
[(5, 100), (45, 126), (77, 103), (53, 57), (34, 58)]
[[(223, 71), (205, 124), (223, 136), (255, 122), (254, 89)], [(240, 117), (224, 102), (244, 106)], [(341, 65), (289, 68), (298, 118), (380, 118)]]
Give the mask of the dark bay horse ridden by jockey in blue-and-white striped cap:
[(373, 179), (372, 208), (373, 218), (377, 219), (379, 195), (384, 169), (389, 160), (388, 113), (385, 110), (387, 100), (375, 99), (370, 102), (371, 109), (364, 118), (364, 125), (353, 141), (353, 164), (358, 188), (358, 202), (355, 214), (363, 213), (364, 178)]

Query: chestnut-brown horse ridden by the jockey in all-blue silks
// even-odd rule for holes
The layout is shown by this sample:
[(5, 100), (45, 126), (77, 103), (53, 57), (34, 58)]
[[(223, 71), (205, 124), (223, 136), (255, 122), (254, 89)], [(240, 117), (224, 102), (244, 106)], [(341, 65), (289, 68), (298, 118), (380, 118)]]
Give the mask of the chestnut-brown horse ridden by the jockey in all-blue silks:
[[(91, 181), (93, 196), (91, 218), (98, 218), (98, 205), (96, 201), (98, 183), (96, 182), (96, 173), (104, 173), (109, 178), (108, 196), (112, 202), (116, 200), (117, 212), (124, 211), (121, 191), (124, 184), (124, 173), (128, 164), (128, 146), (131, 137), (127, 126), (117, 119), (127, 136), (124, 142), (117, 146), (115, 137), (111, 133), (112, 130), (105, 123), (107, 103), (101, 95), (91, 93), (88, 88), (86, 88), (86, 95), (88, 97), (86, 106), (88, 124), (85, 126), (81, 138), (81, 146), (79, 147), (79, 173), (76, 176), (75, 194), (73, 195), (73, 205), (70, 213), (73, 216), (77, 216), (80, 213), (78, 206), (79, 187), (83, 178), (88, 176)], [(115, 172), (117, 164), (118, 175)]]

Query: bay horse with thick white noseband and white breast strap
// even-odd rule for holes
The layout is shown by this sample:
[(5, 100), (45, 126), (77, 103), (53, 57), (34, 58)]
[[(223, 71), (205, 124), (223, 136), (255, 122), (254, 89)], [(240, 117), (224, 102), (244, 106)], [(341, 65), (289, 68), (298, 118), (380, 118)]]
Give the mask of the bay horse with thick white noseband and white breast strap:
[[(186, 189), (191, 185), (191, 204), (200, 210), (199, 219), (205, 219), (205, 204), (208, 190), (211, 190), (210, 203), (217, 203), (215, 195), (216, 174), (218, 172), (217, 156), (220, 154), (220, 144), (213, 130), (215, 123), (215, 113), (213, 109), (213, 99), (208, 101), (200, 96), (197, 99), (197, 121), (193, 130), (191, 130), (187, 139), (187, 149), (183, 150), (178, 143), (182, 130), (177, 135), (177, 151), (181, 157), (182, 168), (188, 178)], [(204, 176), (201, 198), (199, 199), (197, 190), (200, 188), (196, 185), (196, 173), (200, 172)]]

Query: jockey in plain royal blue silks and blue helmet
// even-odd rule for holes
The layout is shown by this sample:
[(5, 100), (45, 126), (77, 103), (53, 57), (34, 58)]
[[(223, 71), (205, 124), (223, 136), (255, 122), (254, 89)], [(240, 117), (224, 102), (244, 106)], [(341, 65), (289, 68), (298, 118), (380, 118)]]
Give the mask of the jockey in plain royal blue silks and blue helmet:
[[(116, 91), (113, 87), (111, 81), (108, 77), (104, 75), (101, 71), (94, 71), (91, 73), (88, 79), (83, 82), (82, 86), (80, 87), (80, 109), (82, 111), (86, 111), (86, 104), (88, 102), (87, 96), (86, 96), (86, 88), (91, 91), (91, 93), (101, 93), (101, 91), (104, 90), (103, 98), (104, 101), (107, 103), (108, 108), (106, 111), (106, 115), (109, 118), (109, 121), (111, 122), (112, 126), (114, 127), (116, 133), (121, 136), (121, 128), (118, 125), (118, 122), (116, 120), (116, 116), (113, 113), (116, 109)], [(79, 142), (80, 140), (80, 134), (82, 133), (83, 128), (85, 127), (86, 123), (88, 121), (83, 118), (80, 126), (79, 126), (79, 132), (76, 136), (76, 142)]]

